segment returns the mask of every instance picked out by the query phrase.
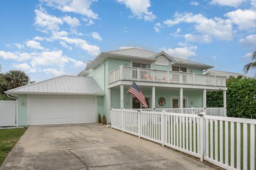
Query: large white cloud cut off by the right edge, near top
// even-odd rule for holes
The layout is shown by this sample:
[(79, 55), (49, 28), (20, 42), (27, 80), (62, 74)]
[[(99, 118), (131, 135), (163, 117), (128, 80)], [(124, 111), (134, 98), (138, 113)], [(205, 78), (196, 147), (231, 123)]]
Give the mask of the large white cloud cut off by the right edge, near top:
[(240, 30), (253, 31), (256, 27), (256, 12), (251, 10), (231, 11), (226, 13), (224, 16), (230, 18), (230, 20), (238, 25)]

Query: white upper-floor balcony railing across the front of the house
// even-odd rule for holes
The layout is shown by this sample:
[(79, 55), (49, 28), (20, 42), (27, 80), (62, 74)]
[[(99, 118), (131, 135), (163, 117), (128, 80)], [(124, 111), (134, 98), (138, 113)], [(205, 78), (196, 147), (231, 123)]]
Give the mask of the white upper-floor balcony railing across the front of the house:
[(108, 78), (109, 84), (119, 80), (127, 80), (226, 87), (225, 77), (196, 73), (142, 69), (123, 65), (109, 72)]

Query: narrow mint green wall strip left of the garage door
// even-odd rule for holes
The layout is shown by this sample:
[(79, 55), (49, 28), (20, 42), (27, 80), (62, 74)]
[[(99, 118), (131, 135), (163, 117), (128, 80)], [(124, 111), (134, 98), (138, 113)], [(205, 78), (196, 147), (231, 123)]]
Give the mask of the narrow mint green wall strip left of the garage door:
[[(26, 126), (27, 124), (27, 95), (19, 95), (19, 106), (18, 106), (18, 125)], [(24, 101), (24, 106), (22, 105), (22, 101)]]

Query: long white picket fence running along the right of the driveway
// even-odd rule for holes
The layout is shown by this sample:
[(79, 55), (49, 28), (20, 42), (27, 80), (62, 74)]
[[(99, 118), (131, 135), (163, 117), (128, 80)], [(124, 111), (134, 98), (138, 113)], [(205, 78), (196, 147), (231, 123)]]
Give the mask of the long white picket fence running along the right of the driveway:
[(161, 143), (225, 169), (249, 169), (249, 166), (255, 169), (256, 120), (204, 113), (167, 113), (165, 110), (111, 109), (110, 114), (111, 128)]

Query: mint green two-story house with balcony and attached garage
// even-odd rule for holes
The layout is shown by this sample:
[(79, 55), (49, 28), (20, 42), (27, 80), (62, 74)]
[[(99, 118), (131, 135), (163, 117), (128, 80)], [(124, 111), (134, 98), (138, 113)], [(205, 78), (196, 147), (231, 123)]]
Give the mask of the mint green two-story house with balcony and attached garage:
[[(62, 76), (6, 91), (18, 98), (19, 125), (97, 122), (110, 108), (142, 108), (127, 93), (135, 81), (149, 109), (226, 114), (226, 79), (213, 66), (139, 48), (100, 53), (77, 77)], [(223, 91), (224, 108), (206, 108), (207, 91)]]

